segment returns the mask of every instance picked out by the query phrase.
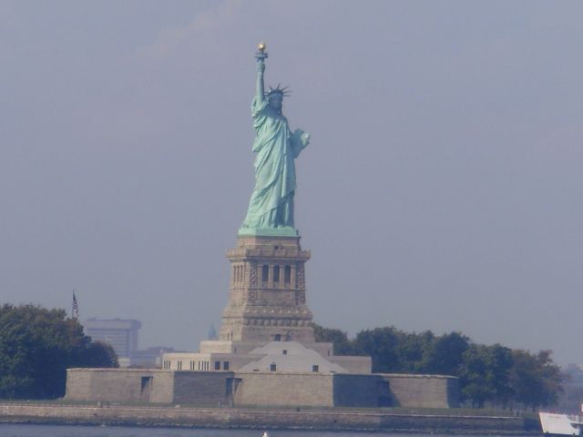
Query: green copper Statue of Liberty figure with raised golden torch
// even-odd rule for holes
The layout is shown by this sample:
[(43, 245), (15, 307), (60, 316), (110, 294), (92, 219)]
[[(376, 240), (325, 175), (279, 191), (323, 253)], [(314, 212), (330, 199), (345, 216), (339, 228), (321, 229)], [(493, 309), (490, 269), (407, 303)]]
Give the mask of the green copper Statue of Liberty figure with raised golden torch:
[(293, 160), (310, 142), (310, 135), (301, 129), (293, 133), (288, 120), (281, 114), (286, 88), (279, 85), (265, 92), (265, 45), (259, 45), (257, 85), (251, 104), (255, 141), (252, 150), (255, 187), (251, 194), (247, 217), (240, 235), (297, 235), (293, 226), (293, 196), (295, 165)]

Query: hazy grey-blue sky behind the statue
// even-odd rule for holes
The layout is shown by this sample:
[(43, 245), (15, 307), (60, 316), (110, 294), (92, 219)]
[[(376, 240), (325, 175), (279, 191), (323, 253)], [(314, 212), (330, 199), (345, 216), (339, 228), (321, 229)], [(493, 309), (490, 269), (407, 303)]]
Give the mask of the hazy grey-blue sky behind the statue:
[(0, 301), (218, 329), (262, 40), (314, 320), (582, 363), (581, 1), (0, 0)]

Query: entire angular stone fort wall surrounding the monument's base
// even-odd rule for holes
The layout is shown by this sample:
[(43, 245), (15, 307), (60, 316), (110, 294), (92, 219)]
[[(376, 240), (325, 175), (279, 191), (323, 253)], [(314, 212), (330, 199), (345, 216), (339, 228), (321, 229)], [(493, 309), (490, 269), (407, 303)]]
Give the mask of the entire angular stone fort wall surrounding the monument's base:
[(318, 372), (69, 369), (71, 401), (312, 407), (458, 406), (457, 378)]

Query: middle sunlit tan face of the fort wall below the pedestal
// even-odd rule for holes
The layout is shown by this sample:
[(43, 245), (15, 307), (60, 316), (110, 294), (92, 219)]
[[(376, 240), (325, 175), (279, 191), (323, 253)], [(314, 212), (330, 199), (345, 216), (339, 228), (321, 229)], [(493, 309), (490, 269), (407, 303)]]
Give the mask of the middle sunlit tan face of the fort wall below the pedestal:
[(332, 407), (332, 375), (249, 372), (236, 374), (235, 405)]

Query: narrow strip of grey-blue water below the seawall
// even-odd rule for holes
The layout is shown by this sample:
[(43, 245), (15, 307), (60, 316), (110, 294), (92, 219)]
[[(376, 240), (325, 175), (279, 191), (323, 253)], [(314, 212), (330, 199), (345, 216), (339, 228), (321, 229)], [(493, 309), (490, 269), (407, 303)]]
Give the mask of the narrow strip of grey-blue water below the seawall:
[[(67, 425), (13, 425), (0, 423), (1, 437), (261, 437), (259, 430), (197, 430), (176, 428), (138, 428), (118, 426), (67, 426)], [(270, 437), (371, 437), (366, 432), (302, 432), (272, 431)], [(429, 434), (384, 434), (375, 432), (374, 436), (427, 437)], [(486, 437), (482, 435), (455, 437)], [(488, 436), (492, 437), (492, 436)], [(529, 437), (529, 436), (521, 436)], [(531, 437), (540, 437), (532, 434)]]

